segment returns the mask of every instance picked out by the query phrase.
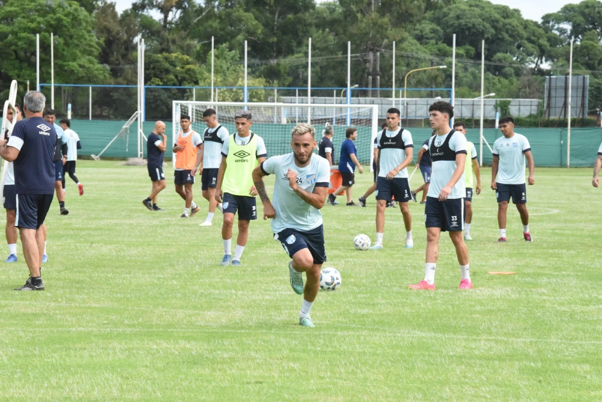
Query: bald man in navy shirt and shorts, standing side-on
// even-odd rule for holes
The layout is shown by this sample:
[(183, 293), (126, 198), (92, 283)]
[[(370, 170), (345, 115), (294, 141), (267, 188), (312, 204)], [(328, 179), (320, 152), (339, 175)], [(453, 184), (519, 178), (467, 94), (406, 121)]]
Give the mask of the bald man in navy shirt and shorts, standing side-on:
[[(159, 138), (161, 135), (161, 138)], [(148, 155), (147, 168), (152, 181), (151, 195), (143, 200), (144, 206), (151, 211), (163, 211), (157, 206), (157, 195), (166, 186), (163, 173), (163, 155), (167, 146), (167, 135), (165, 135), (165, 123), (155, 123), (155, 128), (146, 141), (146, 153)]]

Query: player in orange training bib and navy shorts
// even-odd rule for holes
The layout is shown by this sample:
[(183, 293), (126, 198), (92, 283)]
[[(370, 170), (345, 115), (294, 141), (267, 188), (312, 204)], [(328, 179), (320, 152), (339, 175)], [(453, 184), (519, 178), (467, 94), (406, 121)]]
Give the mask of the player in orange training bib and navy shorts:
[(192, 199), (192, 185), (194, 184), (194, 175), (192, 170), (198, 166), (202, 155), (199, 148), (203, 143), (200, 134), (190, 128), (192, 124), (190, 116), (182, 114), (180, 116), (180, 127), (182, 131), (178, 133), (178, 140), (173, 144), (173, 152), (176, 153), (176, 167), (173, 172), (173, 182), (176, 185), (176, 193), (185, 201), (184, 213), (181, 218), (193, 217), (200, 211)]

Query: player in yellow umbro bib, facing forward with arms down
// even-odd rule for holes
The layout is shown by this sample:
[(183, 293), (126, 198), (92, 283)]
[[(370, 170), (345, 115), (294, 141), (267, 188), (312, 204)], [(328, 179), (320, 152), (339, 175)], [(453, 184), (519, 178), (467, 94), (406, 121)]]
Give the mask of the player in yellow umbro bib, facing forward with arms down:
[[(216, 200), (222, 203), (223, 224), (222, 240), (224, 257), (220, 265), (240, 265), (244, 246), (249, 237), (249, 223), (257, 219), (255, 196), (257, 190), (253, 184), (253, 169), (265, 161), (267, 152), (263, 138), (251, 132), (252, 114), (248, 110), (239, 110), (234, 115), (236, 133), (224, 140), (222, 146), (222, 164), (217, 172)], [(232, 225), (234, 214), (238, 211), (238, 238), (232, 258)]]

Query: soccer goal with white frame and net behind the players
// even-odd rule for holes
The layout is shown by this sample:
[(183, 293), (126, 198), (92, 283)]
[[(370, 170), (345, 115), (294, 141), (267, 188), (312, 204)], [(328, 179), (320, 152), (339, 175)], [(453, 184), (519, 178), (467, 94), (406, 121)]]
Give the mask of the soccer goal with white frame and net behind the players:
[[(297, 123), (310, 123), (315, 128), (315, 139), (320, 142), (324, 126), (330, 123), (334, 128), (332, 143), (334, 144), (335, 160), (337, 164), (341, 156), (341, 143), (345, 140), (345, 131), (349, 127), (358, 130), (358, 139), (355, 146), (358, 149), (358, 160), (361, 164), (370, 164), (373, 161), (373, 142), (376, 138), (378, 127), (377, 105), (307, 105), (307, 104), (280, 104), (280, 103), (244, 103), (244, 102), (192, 102), (187, 100), (174, 100), (172, 144), (175, 143), (181, 114), (187, 114), (192, 121), (192, 129), (203, 134), (207, 126), (203, 120), (203, 112), (214, 109), (217, 121), (228, 129), (230, 134), (236, 132), (234, 114), (237, 110), (247, 109), (253, 114), (251, 131), (264, 139), (268, 158), (291, 152), (291, 129)], [(317, 153), (317, 149), (315, 150)], [(173, 155), (175, 161), (175, 154)], [(175, 162), (174, 162), (175, 163)]]

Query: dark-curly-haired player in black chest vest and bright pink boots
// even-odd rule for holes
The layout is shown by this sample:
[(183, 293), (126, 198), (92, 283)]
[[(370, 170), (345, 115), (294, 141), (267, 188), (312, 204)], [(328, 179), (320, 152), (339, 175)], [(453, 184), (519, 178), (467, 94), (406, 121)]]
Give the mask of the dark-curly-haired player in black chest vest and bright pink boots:
[(429, 152), (433, 160), (429, 192), (424, 207), (426, 222), (426, 269), (424, 280), (411, 289), (435, 290), (435, 267), (439, 257), (439, 237), (448, 231), (456, 248), (456, 256), (462, 271), (459, 289), (472, 289), (468, 267), (468, 248), (462, 237), (464, 227), (464, 167), (466, 138), (460, 132), (450, 130), (453, 106), (448, 102), (435, 102), (429, 107), (430, 126), (437, 135), (429, 140)]

